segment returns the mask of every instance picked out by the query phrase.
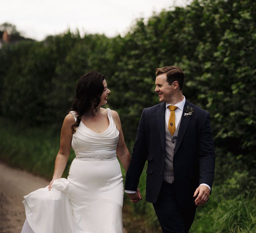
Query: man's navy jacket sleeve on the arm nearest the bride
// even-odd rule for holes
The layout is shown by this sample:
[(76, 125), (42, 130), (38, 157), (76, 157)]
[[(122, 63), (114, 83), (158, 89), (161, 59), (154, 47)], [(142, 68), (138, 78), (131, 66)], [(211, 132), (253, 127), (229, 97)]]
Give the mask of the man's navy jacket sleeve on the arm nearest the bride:
[(132, 158), (126, 173), (125, 189), (136, 191), (140, 175), (147, 159), (147, 143), (145, 137), (145, 109), (143, 110), (137, 130), (135, 144), (133, 146)]

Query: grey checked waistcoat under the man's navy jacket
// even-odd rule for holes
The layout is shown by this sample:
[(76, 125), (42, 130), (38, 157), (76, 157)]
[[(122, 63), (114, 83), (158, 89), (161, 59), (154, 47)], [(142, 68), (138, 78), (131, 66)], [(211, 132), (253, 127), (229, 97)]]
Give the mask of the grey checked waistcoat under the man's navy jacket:
[(176, 127), (176, 131), (171, 135), (168, 126), (165, 122), (165, 161), (164, 161), (164, 174), (163, 179), (167, 183), (172, 183), (174, 181), (173, 175), (173, 155), (174, 148), (177, 141), (177, 136), (179, 132), (180, 121)]

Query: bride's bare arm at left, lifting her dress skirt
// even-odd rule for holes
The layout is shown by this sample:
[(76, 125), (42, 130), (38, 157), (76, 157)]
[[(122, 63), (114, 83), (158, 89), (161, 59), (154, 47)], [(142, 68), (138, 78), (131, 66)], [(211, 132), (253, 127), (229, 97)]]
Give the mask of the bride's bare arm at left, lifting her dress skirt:
[(63, 121), (60, 134), (60, 149), (55, 159), (54, 172), (52, 181), (49, 184), (49, 191), (52, 188), (53, 181), (61, 178), (62, 173), (66, 167), (73, 135), (71, 132), (71, 125), (74, 123), (75, 119), (72, 114), (68, 114)]

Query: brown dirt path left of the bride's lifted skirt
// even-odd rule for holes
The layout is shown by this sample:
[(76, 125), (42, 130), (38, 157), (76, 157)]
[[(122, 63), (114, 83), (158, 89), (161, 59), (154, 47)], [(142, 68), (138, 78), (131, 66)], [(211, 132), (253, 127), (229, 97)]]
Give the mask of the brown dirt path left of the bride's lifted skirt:
[(23, 196), (48, 185), (48, 181), (27, 171), (0, 163), (0, 232), (20, 233), (25, 221)]

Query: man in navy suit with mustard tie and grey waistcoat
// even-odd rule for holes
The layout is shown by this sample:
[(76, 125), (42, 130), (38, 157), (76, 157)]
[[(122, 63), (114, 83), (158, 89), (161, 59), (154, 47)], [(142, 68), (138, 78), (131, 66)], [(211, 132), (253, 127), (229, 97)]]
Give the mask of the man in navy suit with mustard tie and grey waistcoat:
[(180, 67), (156, 69), (158, 105), (144, 109), (138, 126), (125, 192), (132, 202), (146, 160), (146, 201), (153, 203), (162, 231), (189, 232), (197, 205), (208, 201), (215, 153), (208, 112), (182, 93)]

